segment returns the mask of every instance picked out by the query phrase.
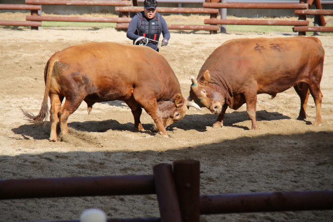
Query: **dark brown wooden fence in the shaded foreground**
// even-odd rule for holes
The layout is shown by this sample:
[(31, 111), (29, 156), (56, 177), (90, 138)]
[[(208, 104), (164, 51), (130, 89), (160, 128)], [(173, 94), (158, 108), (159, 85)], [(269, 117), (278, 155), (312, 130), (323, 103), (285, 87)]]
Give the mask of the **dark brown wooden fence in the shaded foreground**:
[[(161, 163), (152, 175), (1, 180), (0, 199), (156, 194), (160, 218), (115, 221), (199, 222), (200, 214), (331, 210), (333, 190), (199, 195), (200, 163)], [(77, 220), (61, 220), (76, 222)]]

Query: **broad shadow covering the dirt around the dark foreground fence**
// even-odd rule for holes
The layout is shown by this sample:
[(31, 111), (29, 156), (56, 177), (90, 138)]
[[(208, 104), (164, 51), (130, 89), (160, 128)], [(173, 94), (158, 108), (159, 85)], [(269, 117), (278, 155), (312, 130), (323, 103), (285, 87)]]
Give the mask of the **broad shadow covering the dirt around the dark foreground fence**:
[[(54, 152), (2, 155), (0, 178), (144, 175), (152, 174), (152, 166), (157, 163), (195, 159), (200, 161), (201, 194), (329, 190), (333, 183), (332, 138), (333, 131), (265, 134), (221, 139), (212, 144), (180, 144), (164, 152), (128, 149), (89, 152), (80, 151), (79, 147), (63, 152), (59, 146)], [(0, 202), (0, 210), (8, 218), (6, 221), (9, 218), (55, 220), (77, 218), (78, 212), (92, 205), (113, 218), (158, 216), (156, 198), (151, 195), (6, 200)], [(49, 210), (50, 207), (56, 210)], [(224, 214), (203, 216), (202, 221), (266, 221), (266, 218), (331, 221), (333, 211)]]

